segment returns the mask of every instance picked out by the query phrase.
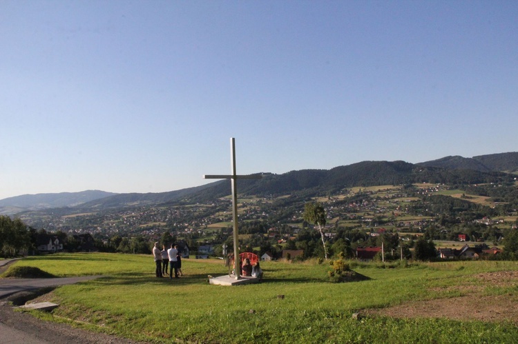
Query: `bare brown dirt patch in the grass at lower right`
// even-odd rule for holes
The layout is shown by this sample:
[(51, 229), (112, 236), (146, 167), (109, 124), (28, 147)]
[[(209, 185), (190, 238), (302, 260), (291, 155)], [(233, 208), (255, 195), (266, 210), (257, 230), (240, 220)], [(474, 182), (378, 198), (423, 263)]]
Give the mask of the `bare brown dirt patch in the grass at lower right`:
[(518, 295), (515, 292), (501, 295), (482, 295), (483, 287), (517, 287), (518, 272), (503, 271), (475, 275), (480, 285), (461, 287), (466, 296), (448, 299), (412, 301), (394, 307), (364, 310), (366, 315), (383, 315), (394, 318), (450, 318), (460, 321), (488, 322), (510, 321), (518, 325)]

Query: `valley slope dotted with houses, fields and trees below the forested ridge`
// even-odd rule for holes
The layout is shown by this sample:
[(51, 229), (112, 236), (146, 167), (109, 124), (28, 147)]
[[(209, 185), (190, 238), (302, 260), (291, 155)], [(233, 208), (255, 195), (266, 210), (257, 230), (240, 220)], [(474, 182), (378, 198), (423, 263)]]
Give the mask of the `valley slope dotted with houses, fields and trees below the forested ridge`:
[[(321, 198), (327, 212), (324, 227), (326, 241), (332, 245), (340, 239), (340, 231), (342, 236), (344, 231), (354, 232), (354, 237), (351, 236), (349, 241), (352, 250), (349, 258), (358, 261), (383, 261), (387, 256), (392, 260), (408, 259), (408, 249), (412, 250), (413, 242), (421, 237), (438, 243), (458, 243), (459, 248), (452, 245), (436, 246), (435, 259), (495, 259), (499, 256), (502, 250), (498, 243), (503, 239), (505, 228), (516, 230), (517, 222), (510, 222), (508, 216), (492, 219), (490, 214), (471, 219), (461, 212), (441, 214), (442, 209), (452, 209), (450, 204), (443, 206), (442, 203), (436, 205), (430, 202), (434, 200), (434, 195), (441, 192), (450, 192), (448, 185), (345, 189), (340, 194)], [(438, 200), (451, 202), (451, 199), (443, 196)], [(464, 207), (470, 205), (463, 198), (455, 201)], [(244, 234), (243, 238), (246, 239), (240, 245), (249, 248), (261, 246), (257, 253), (263, 260), (306, 259), (314, 256), (315, 253), (307, 252), (304, 245), (298, 245), (300, 232), (311, 227), (303, 221), (303, 202), (282, 197), (241, 201), (240, 234)], [(66, 250), (70, 243), (65, 241), (73, 241), (75, 251), (93, 252), (99, 250), (99, 241), (108, 245), (114, 236), (126, 240), (140, 238), (148, 243), (160, 240), (166, 232), (178, 239), (184, 254), (206, 258), (222, 255), (221, 245), (231, 234), (230, 210), (231, 200), (223, 197), (209, 204), (140, 206), (67, 216), (56, 213), (29, 221), (32, 221), (31, 227), (45, 229), (39, 230), (35, 253)], [(65, 235), (53, 235), (56, 233)], [(383, 240), (379, 239), (380, 236)], [(393, 236), (396, 236), (395, 242), (382, 247), (381, 242)], [(318, 243), (318, 239), (315, 240)], [(269, 244), (262, 245), (265, 241)], [(406, 247), (405, 252), (403, 247)], [(312, 250), (315, 249), (312, 247)], [(395, 251), (400, 249), (402, 252), (399, 256)], [(112, 247), (112, 250), (117, 250), (117, 247)], [(144, 247), (133, 252), (142, 253), (146, 250), (148, 248)]]

